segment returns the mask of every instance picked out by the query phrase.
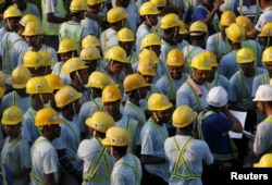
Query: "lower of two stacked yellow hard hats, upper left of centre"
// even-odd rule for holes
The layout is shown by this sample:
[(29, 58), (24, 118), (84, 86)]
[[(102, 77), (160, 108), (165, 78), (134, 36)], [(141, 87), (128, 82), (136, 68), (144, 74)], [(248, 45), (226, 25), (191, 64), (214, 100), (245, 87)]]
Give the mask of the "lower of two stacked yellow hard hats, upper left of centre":
[[(102, 55), (97, 47), (90, 46), (81, 51), (81, 59), (85, 61), (100, 60)], [(85, 62), (86, 63), (86, 62)]]

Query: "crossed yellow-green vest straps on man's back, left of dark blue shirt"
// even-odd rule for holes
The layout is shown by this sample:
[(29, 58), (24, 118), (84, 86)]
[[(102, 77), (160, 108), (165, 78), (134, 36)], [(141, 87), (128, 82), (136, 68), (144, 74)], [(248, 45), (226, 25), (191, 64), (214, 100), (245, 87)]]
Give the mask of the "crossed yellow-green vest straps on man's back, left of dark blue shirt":
[[(176, 177), (178, 180), (196, 180), (196, 178), (201, 177), (201, 174), (195, 174), (191, 172), (191, 169), (188, 166), (188, 163), (186, 162), (186, 160), (184, 158), (184, 151), (186, 150), (186, 148), (188, 147), (188, 145), (190, 144), (191, 140), (193, 140), (193, 137), (188, 138), (180, 147), (177, 141), (176, 141), (176, 138), (173, 137), (173, 141), (174, 141), (176, 150), (178, 151), (178, 155), (177, 155), (177, 158), (175, 160), (173, 171), (170, 174), (172, 177)], [(178, 169), (181, 169), (182, 166), (186, 169), (186, 173), (178, 172)]]

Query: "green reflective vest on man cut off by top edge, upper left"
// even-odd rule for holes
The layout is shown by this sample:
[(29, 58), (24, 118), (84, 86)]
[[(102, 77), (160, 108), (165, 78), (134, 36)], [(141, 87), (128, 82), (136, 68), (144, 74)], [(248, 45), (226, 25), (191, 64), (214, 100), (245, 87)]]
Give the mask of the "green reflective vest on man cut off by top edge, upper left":
[[(45, 35), (50, 35), (50, 36), (58, 36), (59, 35), (59, 27), (60, 27), (60, 23), (49, 23), (47, 21), (47, 15), (46, 15), (46, 1), (48, 0), (41, 0), (41, 10), (42, 10), (42, 29)], [(58, 17), (65, 17), (66, 15), (66, 10), (65, 7), (63, 4), (64, 1), (62, 0), (55, 0), (55, 4), (54, 4), (54, 12), (53, 15), (58, 16)]]

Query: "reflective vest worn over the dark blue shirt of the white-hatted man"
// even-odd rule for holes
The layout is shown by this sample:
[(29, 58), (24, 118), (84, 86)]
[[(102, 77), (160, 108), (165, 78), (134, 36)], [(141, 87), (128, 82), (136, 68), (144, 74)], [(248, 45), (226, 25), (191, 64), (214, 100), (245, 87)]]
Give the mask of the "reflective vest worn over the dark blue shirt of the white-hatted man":
[[(198, 115), (198, 137), (201, 139), (201, 140), (205, 140), (205, 137), (203, 137), (203, 131), (202, 131), (202, 122), (205, 119), (207, 119), (208, 116), (212, 115), (212, 114), (215, 114), (214, 111), (202, 111), (199, 113)], [(231, 159), (235, 159), (238, 157), (238, 150), (233, 141), (233, 139), (231, 137), (230, 138), (230, 144), (231, 144), (231, 147), (232, 147), (232, 152), (231, 153), (225, 153), (225, 155), (221, 155), (221, 153), (214, 153), (212, 152), (212, 156), (215, 160), (220, 160), (220, 161), (225, 161), (225, 160), (231, 160)]]

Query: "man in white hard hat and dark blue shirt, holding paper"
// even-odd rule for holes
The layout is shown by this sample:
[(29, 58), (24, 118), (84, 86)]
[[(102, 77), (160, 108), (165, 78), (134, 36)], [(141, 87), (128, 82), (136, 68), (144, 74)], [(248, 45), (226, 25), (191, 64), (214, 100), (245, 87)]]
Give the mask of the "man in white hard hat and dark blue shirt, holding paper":
[[(222, 86), (211, 88), (207, 95), (208, 107), (198, 114), (195, 122), (194, 136), (208, 144), (214, 158), (212, 165), (203, 169), (203, 184), (218, 184), (225, 176), (224, 171), (242, 166), (237, 161), (240, 153), (233, 138), (225, 133), (242, 133), (243, 126), (228, 110), (227, 102), (227, 92)], [(219, 178), (213, 180), (211, 175)]]

